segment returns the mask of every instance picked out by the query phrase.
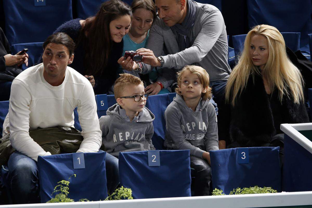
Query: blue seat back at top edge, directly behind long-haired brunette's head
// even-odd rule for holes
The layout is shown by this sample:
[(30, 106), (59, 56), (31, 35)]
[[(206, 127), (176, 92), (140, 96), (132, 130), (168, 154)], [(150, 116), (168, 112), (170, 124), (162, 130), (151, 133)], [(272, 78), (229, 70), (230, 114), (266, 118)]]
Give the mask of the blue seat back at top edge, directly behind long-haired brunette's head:
[[(86, 19), (87, 17), (94, 16), (101, 4), (105, 0), (77, 0), (77, 16), (81, 19)], [(124, 0), (127, 4), (131, 4), (132, 0)]]

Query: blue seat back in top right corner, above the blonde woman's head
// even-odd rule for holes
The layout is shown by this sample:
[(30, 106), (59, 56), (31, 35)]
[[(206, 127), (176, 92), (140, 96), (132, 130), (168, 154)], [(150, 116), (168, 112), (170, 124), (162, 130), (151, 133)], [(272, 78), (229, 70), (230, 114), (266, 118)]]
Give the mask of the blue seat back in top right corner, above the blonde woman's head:
[(301, 32), (300, 47), (308, 44), (308, 34), (312, 33), (311, 0), (247, 0), (247, 9), (250, 28), (267, 24), (280, 32)]

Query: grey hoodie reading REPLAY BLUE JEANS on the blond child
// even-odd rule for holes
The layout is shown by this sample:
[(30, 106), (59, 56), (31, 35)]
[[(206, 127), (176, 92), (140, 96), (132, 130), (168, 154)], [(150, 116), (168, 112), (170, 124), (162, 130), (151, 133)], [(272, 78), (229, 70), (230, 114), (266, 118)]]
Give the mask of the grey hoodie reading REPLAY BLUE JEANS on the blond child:
[(219, 149), (216, 110), (208, 99), (200, 100), (194, 112), (177, 94), (165, 111), (165, 121), (168, 149), (189, 149), (197, 157)]

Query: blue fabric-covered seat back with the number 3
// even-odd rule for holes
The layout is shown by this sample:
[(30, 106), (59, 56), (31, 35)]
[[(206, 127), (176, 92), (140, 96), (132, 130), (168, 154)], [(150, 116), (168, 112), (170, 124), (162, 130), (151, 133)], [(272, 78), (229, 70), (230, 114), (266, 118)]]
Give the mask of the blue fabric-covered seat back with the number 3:
[(230, 148), (210, 151), (213, 189), (272, 187), (281, 191), (279, 147)]

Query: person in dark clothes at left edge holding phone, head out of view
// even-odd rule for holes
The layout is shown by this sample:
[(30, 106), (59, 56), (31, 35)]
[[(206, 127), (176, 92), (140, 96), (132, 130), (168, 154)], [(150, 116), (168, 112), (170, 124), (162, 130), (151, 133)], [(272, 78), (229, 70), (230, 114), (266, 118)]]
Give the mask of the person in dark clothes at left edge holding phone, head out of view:
[(20, 52), (11, 54), (10, 43), (0, 27), (0, 101), (10, 98), (12, 80), (22, 72), (18, 67), (22, 64), (28, 66), (28, 54), (19, 55)]

